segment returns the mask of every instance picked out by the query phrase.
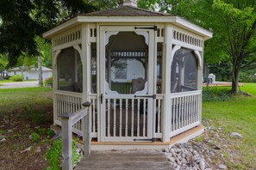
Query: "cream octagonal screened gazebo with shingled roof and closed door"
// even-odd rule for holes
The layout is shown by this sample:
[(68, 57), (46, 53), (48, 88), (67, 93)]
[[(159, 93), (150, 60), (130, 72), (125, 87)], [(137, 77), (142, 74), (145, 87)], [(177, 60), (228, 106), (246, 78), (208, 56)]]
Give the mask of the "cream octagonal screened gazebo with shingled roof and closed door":
[[(53, 49), (53, 124), (91, 101), (92, 149), (168, 143), (200, 127), (209, 31), (123, 0), (115, 9), (77, 15), (44, 37)], [(73, 132), (84, 131), (82, 124)]]

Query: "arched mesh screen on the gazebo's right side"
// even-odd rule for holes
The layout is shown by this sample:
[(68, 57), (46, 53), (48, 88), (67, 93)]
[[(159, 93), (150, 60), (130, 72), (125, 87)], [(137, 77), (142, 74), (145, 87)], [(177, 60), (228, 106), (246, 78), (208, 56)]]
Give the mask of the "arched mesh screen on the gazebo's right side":
[(197, 58), (192, 50), (181, 48), (172, 60), (171, 92), (197, 90)]

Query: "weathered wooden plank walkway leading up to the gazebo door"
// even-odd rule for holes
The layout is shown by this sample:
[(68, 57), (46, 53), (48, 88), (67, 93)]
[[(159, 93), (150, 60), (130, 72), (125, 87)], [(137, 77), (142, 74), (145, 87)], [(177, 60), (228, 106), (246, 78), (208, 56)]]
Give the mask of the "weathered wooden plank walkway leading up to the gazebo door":
[(159, 150), (93, 151), (85, 155), (75, 170), (103, 169), (172, 169), (164, 152)]

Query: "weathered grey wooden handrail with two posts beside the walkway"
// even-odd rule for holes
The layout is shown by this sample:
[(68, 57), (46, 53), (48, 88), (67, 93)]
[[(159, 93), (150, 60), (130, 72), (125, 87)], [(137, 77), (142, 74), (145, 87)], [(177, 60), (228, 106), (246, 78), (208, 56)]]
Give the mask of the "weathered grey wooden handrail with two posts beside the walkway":
[(91, 153), (91, 121), (88, 108), (91, 102), (82, 104), (84, 108), (78, 112), (66, 112), (60, 115), (62, 124), (62, 169), (72, 170), (72, 125), (78, 123), (83, 118), (83, 140), (84, 140), (84, 154)]

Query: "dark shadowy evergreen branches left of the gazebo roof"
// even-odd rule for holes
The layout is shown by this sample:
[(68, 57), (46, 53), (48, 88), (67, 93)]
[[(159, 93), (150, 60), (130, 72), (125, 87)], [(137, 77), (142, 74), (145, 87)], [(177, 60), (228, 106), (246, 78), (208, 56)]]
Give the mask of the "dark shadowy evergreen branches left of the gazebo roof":
[(38, 56), (36, 36), (78, 13), (95, 10), (84, 0), (1, 0), (0, 53), (15, 66), (20, 56)]

